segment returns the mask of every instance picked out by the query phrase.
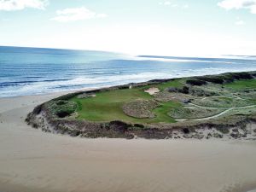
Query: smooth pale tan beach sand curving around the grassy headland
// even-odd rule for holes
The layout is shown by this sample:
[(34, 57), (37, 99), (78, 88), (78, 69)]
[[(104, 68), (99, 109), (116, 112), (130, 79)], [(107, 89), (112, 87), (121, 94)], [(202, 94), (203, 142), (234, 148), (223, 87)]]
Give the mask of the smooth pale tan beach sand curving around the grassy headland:
[(256, 142), (82, 139), (24, 123), (50, 96), (0, 99), (1, 192), (229, 192), (256, 188)]

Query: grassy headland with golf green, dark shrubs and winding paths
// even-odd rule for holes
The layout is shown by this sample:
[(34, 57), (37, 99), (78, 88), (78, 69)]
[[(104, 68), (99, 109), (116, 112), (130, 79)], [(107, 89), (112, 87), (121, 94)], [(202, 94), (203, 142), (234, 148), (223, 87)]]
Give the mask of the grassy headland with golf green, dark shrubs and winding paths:
[[(81, 131), (83, 125), (90, 126), (90, 131), (96, 127), (96, 135), (90, 133), (85, 137), (109, 137), (109, 130), (119, 130), (120, 127), (126, 132), (170, 131), (178, 127), (189, 127), (186, 129), (190, 132), (202, 125), (223, 130), (225, 125), (241, 125), (241, 122), (255, 119), (255, 77), (254, 72), (224, 73), (78, 92), (46, 102), (30, 115), (35, 118), (43, 110), (54, 129), (57, 126), (65, 132), (74, 130), (71, 128), (74, 127), (79, 130), (74, 135), (84, 132)], [(31, 116), (28, 121), (33, 119)], [(104, 134), (99, 132), (101, 129)], [(241, 137), (239, 134), (236, 135)]]

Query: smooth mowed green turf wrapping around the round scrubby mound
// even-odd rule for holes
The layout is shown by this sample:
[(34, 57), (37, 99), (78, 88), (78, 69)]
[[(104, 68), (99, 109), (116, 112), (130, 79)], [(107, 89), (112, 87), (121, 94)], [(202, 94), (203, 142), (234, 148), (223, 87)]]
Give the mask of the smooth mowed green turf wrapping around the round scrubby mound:
[(174, 123), (175, 120), (168, 116), (167, 113), (170, 111), (170, 108), (180, 105), (177, 102), (160, 103), (160, 107), (153, 110), (156, 115), (154, 119), (137, 119), (127, 116), (123, 112), (122, 106), (125, 102), (135, 101), (137, 99), (154, 99), (154, 96), (150, 96), (148, 93), (144, 92), (145, 89), (147, 89), (147, 87), (109, 90), (97, 93), (96, 97), (84, 99), (73, 98), (72, 101), (79, 104), (78, 119), (98, 122), (122, 120), (130, 123)]

